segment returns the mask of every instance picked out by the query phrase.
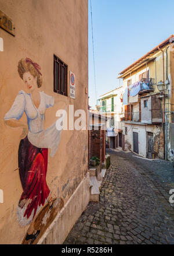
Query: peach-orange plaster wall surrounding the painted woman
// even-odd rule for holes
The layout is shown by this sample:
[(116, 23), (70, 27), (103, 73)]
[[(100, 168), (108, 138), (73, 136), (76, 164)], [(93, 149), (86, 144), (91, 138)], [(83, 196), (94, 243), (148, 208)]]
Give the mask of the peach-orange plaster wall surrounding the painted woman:
[[(37, 62), (41, 66), (43, 77), (40, 90), (55, 98), (55, 105), (46, 111), (44, 128), (56, 121), (57, 110), (66, 106), (68, 110), (71, 104), (74, 111), (85, 110), (87, 117), (88, 94), (85, 88), (88, 90), (88, 1), (0, 0), (0, 9), (15, 24), (15, 37), (0, 28), (4, 44), (3, 52), (0, 52), (0, 189), (3, 190), (3, 204), (0, 204), (0, 243), (20, 244), (28, 229), (28, 226), (21, 227), (16, 217), (23, 191), (19, 171), (16, 170), (22, 129), (9, 128), (3, 120), (19, 90), (26, 90), (17, 72), (17, 65), (21, 58), (26, 57)], [(54, 54), (68, 65), (68, 96), (53, 92)], [(76, 78), (75, 99), (69, 96), (70, 71), (75, 73)], [(21, 121), (27, 122), (26, 115), (23, 115)], [(88, 130), (62, 131), (56, 155), (50, 157), (49, 153), (50, 149), (46, 181), (50, 190), (58, 197), (63, 197), (66, 204), (88, 172)], [(88, 191), (86, 195), (88, 198)], [(77, 203), (78, 200), (79, 198)], [(81, 204), (84, 205), (78, 215), (88, 202), (82, 201)], [(72, 225), (73, 223), (71, 227)]]

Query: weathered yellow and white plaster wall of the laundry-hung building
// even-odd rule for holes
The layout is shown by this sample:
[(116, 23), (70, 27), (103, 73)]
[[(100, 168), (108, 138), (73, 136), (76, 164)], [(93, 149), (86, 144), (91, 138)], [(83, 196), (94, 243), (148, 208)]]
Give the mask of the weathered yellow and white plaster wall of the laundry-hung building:
[[(168, 137), (168, 141), (166, 142), (168, 145), (168, 149), (167, 149), (167, 154), (168, 154), (168, 159), (171, 159), (171, 139), (172, 136), (170, 136), (170, 132), (169, 132), (169, 123), (171, 122), (171, 110), (172, 110), (172, 106), (173, 106), (173, 86), (172, 86), (172, 64), (173, 64), (173, 52), (171, 52), (171, 47), (170, 44), (166, 44), (164, 47), (161, 48), (161, 50), (164, 51), (164, 82), (166, 81), (166, 68), (168, 66), (168, 79), (169, 79), (169, 84), (165, 85), (165, 93), (169, 95), (168, 98), (165, 99), (165, 113), (168, 113), (167, 118), (168, 118), (168, 128), (166, 128), (165, 130), (165, 136)], [(168, 59), (166, 58), (166, 52), (168, 53)], [(135, 83), (137, 81), (139, 81), (139, 75), (143, 72), (149, 71), (149, 77), (153, 78), (153, 92), (147, 93), (147, 99), (151, 94), (154, 93), (159, 93), (157, 84), (158, 82), (160, 82), (161, 80), (163, 80), (163, 70), (162, 70), (162, 51), (158, 50), (155, 51), (154, 53), (152, 53), (148, 58), (151, 58), (150, 61), (147, 61), (143, 64), (140, 64), (140, 66), (137, 66), (136, 68), (132, 69), (132, 71), (128, 71), (128, 73), (125, 72), (124, 78), (123, 78), (123, 85), (127, 86), (128, 80), (131, 79), (132, 83)], [(142, 65), (142, 66), (141, 66)], [(173, 65), (174, 66), (174, 65)], [(143, 94), (143, 96), (145, 96), (145, 94)], [(160, 96), (160, 94), (159, 94)], [(138, 94), (135, 97), (128, 97), (128, 103), (132, 103), (133, 104), (133, 121), (135, 121), (136, 119), (139, 119), (139, 102), (140, 99), (138, 99)], [(134, 100), (135, 99), (135, 100)], [(143, 100), (146, 98), (142, 99), (142, 110), (143, 110)], [(150, 101), (151, 99), (148, 99), (148, 101)], [(135, 101), (135, 102), (134, 102)], [(149, 106), (151, 105), (151, 103), (149, 102)], [(162, 105), (162, 99), (161, 99), (161, 105)], [(151, 108), (151, 107), (150, 107)], [(148, 113), (150, 114), (150, 113)], [(137, 115), (137, 117), (136, 117)], [(136, 117), (136, 118), (134, 118)], [(145, 120), (143, 119), (143, 111), (142, 111), (142, 122), (146, 122), (146, 119), (151, 119), (151, 117), (147, 117), (145, 118)], [(165, 121), (166, 121), (166, 117), (165, 117)], [(130, 125), (125, 124), (125, 127), (128, 127), (128, 135), (125, 135), (125, 148), (126, 149), (132, 149), (133, 150), (133, 139), (132, 139), (132, 128), (129, 129), (129, 127), (131, 127)], [(150, 130), (147, 131), (147, 128), (150, 128)], [(136, 125), (136, 129), (137, 131), (139, 131), (139, 138), (142, 139), (139, 140), (139, 155), (142, 155), (144, 157), (146, 157), (146, 152), (147, 152), (147, 139), (146, 139), (146, 132), (153, 132), (154, 133), (154, 152), (158, 154), (158, 157), (163, 158), (164, 157), (164, 136), (163, 136), (163, 132), (162, 132), (162, 124), (161, 125), (157, 125), (157, 127), (155, 125), (151, 125), (151, 126), (146, 126), (144, 127)], [(143, 134), (143, 135), (142, 135)], [(143, 138), (144, 136), (144, 138)], [(166, 138), (165, 138), (166, 139)], [(126, 145), (127, 143), (127, 145)], [(131, 145), (131, 146), (130, 146)], [(158, 146), (157, 146), (158, 145)], [(160, 145), (160, 146), (159, 146)]]

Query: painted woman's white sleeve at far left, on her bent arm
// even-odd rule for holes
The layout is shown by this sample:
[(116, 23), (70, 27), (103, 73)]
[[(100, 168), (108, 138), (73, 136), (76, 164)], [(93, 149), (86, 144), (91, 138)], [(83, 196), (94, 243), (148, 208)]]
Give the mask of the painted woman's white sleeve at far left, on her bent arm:
[(4, 120), (16, 119), (19, 120), (25, 110), (26, 100), (24, 94), (19, 93), (14, 100), (14, 103), (8, 113), (5, 114)]

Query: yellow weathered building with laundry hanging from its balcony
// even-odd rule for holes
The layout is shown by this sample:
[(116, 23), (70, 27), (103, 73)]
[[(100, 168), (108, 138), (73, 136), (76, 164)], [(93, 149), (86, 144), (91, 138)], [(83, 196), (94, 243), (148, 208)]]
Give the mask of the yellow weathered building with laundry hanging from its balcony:
[(171, 159), (173, 140), (173, 38), (147, 52), (119, 73), (124, 94), (125, 150), (143, 157)]

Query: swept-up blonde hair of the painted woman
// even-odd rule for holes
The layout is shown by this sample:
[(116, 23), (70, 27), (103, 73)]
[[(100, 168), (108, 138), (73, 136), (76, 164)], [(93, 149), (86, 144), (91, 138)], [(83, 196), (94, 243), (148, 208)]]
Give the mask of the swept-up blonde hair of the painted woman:
[[(27, 59), (27, 58), (26, 58)], [(27, 62), (26, 59), (20, 59), (18, 64), (18, 73), (21, 79), (23, 79), (23, 75), (26, 72), (30, 72), (34, 78), (37, 76), (37, 84), (38, 88), (42, 86), (42, 75), (38, 71), (37, 68), (35, 68), (33, 62)], [(38, 65), (38, 64), (37, 64)], [(39, 66), (39, 65), (38, 65)]]

